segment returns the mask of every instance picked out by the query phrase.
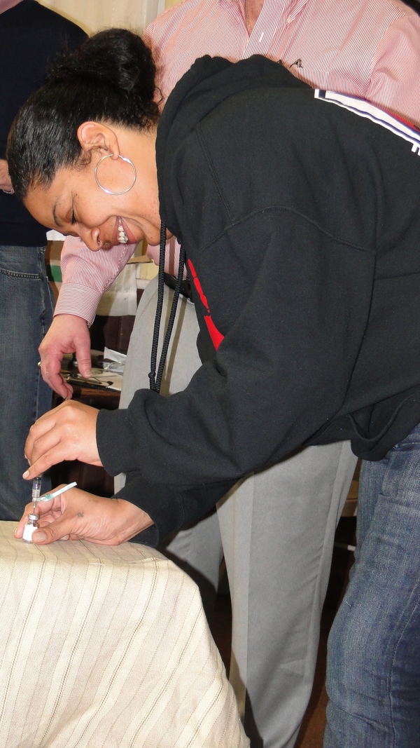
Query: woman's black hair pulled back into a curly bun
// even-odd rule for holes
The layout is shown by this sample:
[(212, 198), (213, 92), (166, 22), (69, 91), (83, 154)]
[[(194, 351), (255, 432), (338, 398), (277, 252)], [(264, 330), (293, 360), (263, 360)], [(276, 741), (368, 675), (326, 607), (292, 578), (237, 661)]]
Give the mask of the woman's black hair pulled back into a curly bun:
[[(43, 88), (19, 109), (7, 141), (16, 196), (48, 186), (62, 166), (86, 163), (78, 126), (94, 120), (147, 129), (158, 122), (155, 64), (132, 31), (100, 31), (52, 65)], [(88, 158), (88, 157), (87, 157)]]

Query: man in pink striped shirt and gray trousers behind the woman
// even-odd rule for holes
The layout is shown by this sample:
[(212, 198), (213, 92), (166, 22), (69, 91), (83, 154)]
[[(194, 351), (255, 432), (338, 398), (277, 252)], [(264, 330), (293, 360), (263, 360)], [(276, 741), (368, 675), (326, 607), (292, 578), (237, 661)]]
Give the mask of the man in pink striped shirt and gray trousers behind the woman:
[[(159, 16), (145, 39), (164, 98), (200, 55), (235, 61), (258, 53), (282, 60), (305, 82), (362, 96), (419, 123), (419, 21), (398, 0), (186, 0)], [(63, 396), (69, 393), (59, 375), (61, 355), (75, 350), (81, 373), (89, 375), (87, 325), (133, 250), (120, 245), (91, 253), (78, 239), (65, 242), (64, 283), (41, 347), (43, 375)], [(170, 272), (176, 257), (170, 242)], [(152, 282), (140, 302), (122, 405), (146, 386), (154, 307)], [(180, 319), (165, 383), (171, 392), (183, 389), (200, 366), (197, 322), (186, 299)], [(179, 533), (168, 547), (212, 586), (224, 553), (232, 593), (231, 678), (255, 747), (291, 748), (297, 739), (312, 688), (334, 530), (353, 468), (347, 443), (309, 447), (250, 476), (221, 503), (223, 548), (214, 516)]]

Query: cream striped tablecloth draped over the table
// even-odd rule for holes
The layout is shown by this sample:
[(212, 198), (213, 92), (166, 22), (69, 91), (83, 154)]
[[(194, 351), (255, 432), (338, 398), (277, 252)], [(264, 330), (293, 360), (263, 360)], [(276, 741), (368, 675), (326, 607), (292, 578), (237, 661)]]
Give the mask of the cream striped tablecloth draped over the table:
[(197, 587), (158, 551), (0, 522), (1, 748), (246, 748)]

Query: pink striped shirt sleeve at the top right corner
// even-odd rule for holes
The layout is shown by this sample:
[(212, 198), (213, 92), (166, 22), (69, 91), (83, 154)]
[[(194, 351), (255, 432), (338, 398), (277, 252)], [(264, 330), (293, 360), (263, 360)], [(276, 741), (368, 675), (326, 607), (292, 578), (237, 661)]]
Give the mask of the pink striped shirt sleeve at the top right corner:
[(420, 126), (420, 16), (413, 11), (383, 34), (365, 98)]

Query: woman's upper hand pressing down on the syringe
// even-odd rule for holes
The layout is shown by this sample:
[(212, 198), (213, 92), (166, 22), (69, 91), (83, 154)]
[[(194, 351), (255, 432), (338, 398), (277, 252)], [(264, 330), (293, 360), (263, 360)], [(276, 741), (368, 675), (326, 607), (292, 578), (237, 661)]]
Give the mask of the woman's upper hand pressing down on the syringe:
[(80, 460), (102, 465), (96, 447), (96, 418), (99, 411), (81, 402), (67, 400), (41, 416), (31, 426), (25, 456), (31, 467), (23, 473), (31, 480), (63, 460)]

